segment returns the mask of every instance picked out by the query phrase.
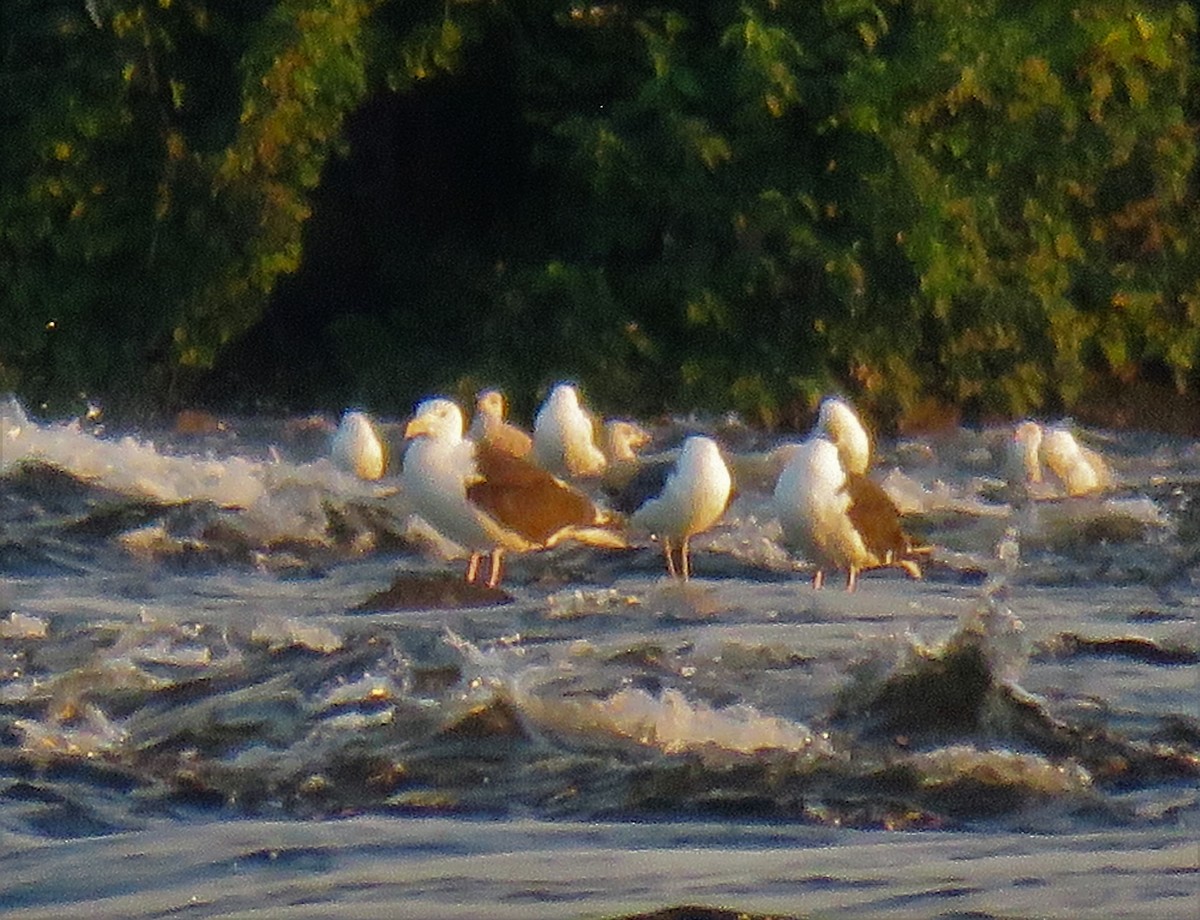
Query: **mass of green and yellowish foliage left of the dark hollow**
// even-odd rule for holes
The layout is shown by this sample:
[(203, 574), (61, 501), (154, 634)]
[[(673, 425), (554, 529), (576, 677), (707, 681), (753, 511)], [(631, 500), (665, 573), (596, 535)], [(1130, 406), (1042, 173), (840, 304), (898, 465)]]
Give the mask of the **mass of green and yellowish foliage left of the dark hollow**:
[(4, 5), (5, 383), (154, 387), (259, 318), (365, 92), (370, 6)]

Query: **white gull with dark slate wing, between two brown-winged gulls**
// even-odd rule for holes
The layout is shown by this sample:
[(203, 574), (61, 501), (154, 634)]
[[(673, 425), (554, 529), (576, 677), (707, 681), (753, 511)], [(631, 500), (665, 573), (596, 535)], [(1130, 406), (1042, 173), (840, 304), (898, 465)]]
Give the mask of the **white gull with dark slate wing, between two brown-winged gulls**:
[(679, 576), (691, 575), (689, 541), (725, 513), (732, 489), (730, 470), (712, 438), (694, 435), (672, 464), (652, 463), (629, 482), (613, 505), (630, 515), (630, 524), (662, 541), (667, 572), (677, 577), (672, 552), (679, 547)]

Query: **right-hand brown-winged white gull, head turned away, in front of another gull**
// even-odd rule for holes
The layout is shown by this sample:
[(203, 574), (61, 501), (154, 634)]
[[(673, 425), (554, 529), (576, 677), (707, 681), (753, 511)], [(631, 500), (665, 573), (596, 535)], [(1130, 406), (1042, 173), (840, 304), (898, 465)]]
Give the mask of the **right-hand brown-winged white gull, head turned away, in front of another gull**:
[(842, 464), (838, 445), (817, 432), (797, 446), (775, 485), (784, 543), (816, 565), (812, 587), (824, 584), (826, 569), (845, 569), (848, 591), (866, 569), (896, 566), (920, 578), (913, 557), (928, 551), (913, 547), (888, 494)]

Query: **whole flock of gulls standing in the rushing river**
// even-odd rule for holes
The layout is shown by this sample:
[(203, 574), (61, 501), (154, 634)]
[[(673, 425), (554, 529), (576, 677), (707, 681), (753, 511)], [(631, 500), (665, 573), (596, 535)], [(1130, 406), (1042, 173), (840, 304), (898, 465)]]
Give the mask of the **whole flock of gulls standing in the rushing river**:
[[(505, 553), (564, 541), (622, 548), (634, 534), (656, 540), (668, 575), (686, 581), (691, 539), (721, 521), (736, 493), (731, 467), (755, 463), (726, 455), (704, 435), (688, 437), (678, 451), (643, 457), (650, 434), (625, 420), (599, 425), (570, 384), (553, 387), (532, 433), (506, 420), (503, 393), (486, 390), (469, 428), (462, 409), (438, 397), (416, 407), (404, 439), (400, 485), (415, 513), (469, 553), (467, 582), (482, 579), (490, 588), (500, 583)], [(1082, 495), (1110, 485), (1103, 459), (1064, 428), (1022, 422), (1012, 455), (1032, 497), (1051, 487)], [(364, 480), (382, 479), (390, 465), (371, 419), (356, 410), (342, 416), (331, 457)], [(784, 546), (815, 567), (815, 588), (827, 571), (845, 572), (847, 590), (872, 569), (922, 576), (930, 548), (905, 533), (896, 505), (870, 477), (870, 464), (871, 438), (850, 402), (836, 396), (821, 403), (806, 438), (757, 457), (756, 468), (774, 479), (772, 504)], [(592, 498), (601, 493), (604, 504)]]

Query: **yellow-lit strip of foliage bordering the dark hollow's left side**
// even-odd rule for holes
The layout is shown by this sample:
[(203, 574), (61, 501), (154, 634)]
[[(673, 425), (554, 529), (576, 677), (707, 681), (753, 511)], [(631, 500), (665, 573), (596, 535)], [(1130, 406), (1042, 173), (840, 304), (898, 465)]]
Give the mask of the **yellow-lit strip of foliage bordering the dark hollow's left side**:
[(206, 163), (217, 212), (205, 246), (215, 270), (173, 330), (181, 366), (210, 367), (259, 319), (277, 278), (300, 265), (308, 193), (366, 94), (362, 29), (374, 5), (284, 0), (253, 30), (238, 132)]

